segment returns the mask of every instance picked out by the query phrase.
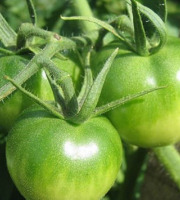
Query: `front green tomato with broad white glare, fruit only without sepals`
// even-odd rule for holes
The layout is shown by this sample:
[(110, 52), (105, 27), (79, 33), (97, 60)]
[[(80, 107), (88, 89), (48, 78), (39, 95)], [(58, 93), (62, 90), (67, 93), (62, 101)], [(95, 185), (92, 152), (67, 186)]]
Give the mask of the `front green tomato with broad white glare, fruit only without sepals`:
[(99, 200), (116, 179), (122, 145), (105, 117), (73, 125), (28, 108), (8, 134), (6, 158), (27, 200)]

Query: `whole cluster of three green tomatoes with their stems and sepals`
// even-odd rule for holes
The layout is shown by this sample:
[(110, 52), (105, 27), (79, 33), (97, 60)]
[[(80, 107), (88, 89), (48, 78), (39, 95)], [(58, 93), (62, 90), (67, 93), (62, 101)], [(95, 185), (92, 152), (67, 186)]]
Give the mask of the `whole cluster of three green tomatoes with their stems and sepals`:
[[(10, 81), (21, 90), (0, 102), (0, 131), (8, 133), (4, 138), (9, 174), (26, 199), (99, 200), (111, 188), (120, 169), (121, 137), (128, 144), (143, 148), (180, 141), (180, 39), (168, 37), (162, 48), (166, 31), (159, 30), (165, 27), (161, 18), (135, 0), (128, 4), (132, 5), (130, 18), (115, 18), (110, 24), (89, 18), (119, 39), (106, 46), (106, 31), (100, 29), (95, 34), (66, 38), (27, 23), (14, 35), (16, 48), (10, 45), (5, 49), (4, 45), (0, 49), (11, 54), (0, 54), (0, 88)], [(31, 1), (28, 6), (30, 12), (35, 12)], [(163, 11), (165, 20), (165, 8)], [(151, 14), (152, 19), (158, 19), (156, 23), (152, 23)], [(146, 18), (153, 27), (143, 25)], [(130, 23), (116, 30), (111, 26), (116, 25), (116, 20), (119, 27), (125, 26), (123, 20)], [(158, 31), (152, 33), (155, 29)], [(36, 44), (38, 40), (31, 37), (41, 37), (45, 44)], [(159, 43), (154, 45), (154, 41)], [(92, 44), (95, 51), (90, 58)], [(98, 45), (103, 47), (98, 49)], [(158, 51), (159, 48), (162, 49)], [(37, 50), (37, 55), (23, 55), (24, 50), (30, 49)], [(39, 70), (24, 82), (19, 74), (31, 67), (29, 62)], [(160, 86), (164, 88), (157, 90)], [(156, 90), (117, 108), (123, 97), (152, 88)], [(33, 100), (40, 106), (34, 105)], [(116, 108), (110, 110), (112, 105)], [(106, 116), (97, 116), (105, 111)]]

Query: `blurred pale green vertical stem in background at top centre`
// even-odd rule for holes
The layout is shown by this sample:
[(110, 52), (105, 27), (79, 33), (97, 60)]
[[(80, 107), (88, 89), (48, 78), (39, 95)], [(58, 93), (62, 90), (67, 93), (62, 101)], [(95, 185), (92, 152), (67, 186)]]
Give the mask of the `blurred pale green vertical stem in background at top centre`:
[[(73, 7), (74, 7), (74, 12), (76, 15), (93, 17), (92, 10), (91, 10), (87, 0), (73, 0)], [(81, 28), (84, 33), (88, 33), (95, 29), (98, 29), (96, 24), (89, 23), (87, 21), (81, 22)]]

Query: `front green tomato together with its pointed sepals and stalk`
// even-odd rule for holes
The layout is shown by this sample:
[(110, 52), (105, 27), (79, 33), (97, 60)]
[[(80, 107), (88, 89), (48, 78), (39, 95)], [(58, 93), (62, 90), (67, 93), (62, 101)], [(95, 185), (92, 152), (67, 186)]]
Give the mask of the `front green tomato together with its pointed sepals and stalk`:
[(56, 97), (54, 103), (42, 101), (6, 77), (45, 108), (25, 110), (7, 136), (7, 167), (26, 199), (98, 200), (114, 183), (122, 160), (121, 140), (108, 119), (97, 117), (106, 109), (96, 105), (117, 52), (111, 54), (94, 81), (89, 67), (85, 68), (77, 98), (72, 80), (49, 60), (44, 67)]

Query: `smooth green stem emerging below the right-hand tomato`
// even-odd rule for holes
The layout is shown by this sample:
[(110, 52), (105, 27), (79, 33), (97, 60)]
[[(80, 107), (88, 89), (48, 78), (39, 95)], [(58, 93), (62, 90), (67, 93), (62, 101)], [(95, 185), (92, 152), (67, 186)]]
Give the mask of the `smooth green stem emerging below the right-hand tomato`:
[(153, 149), (159, 161), (169, 172), (171, 178), (180, 188), (180, 155), (176, 148), (171, 146), (158, 147)]

